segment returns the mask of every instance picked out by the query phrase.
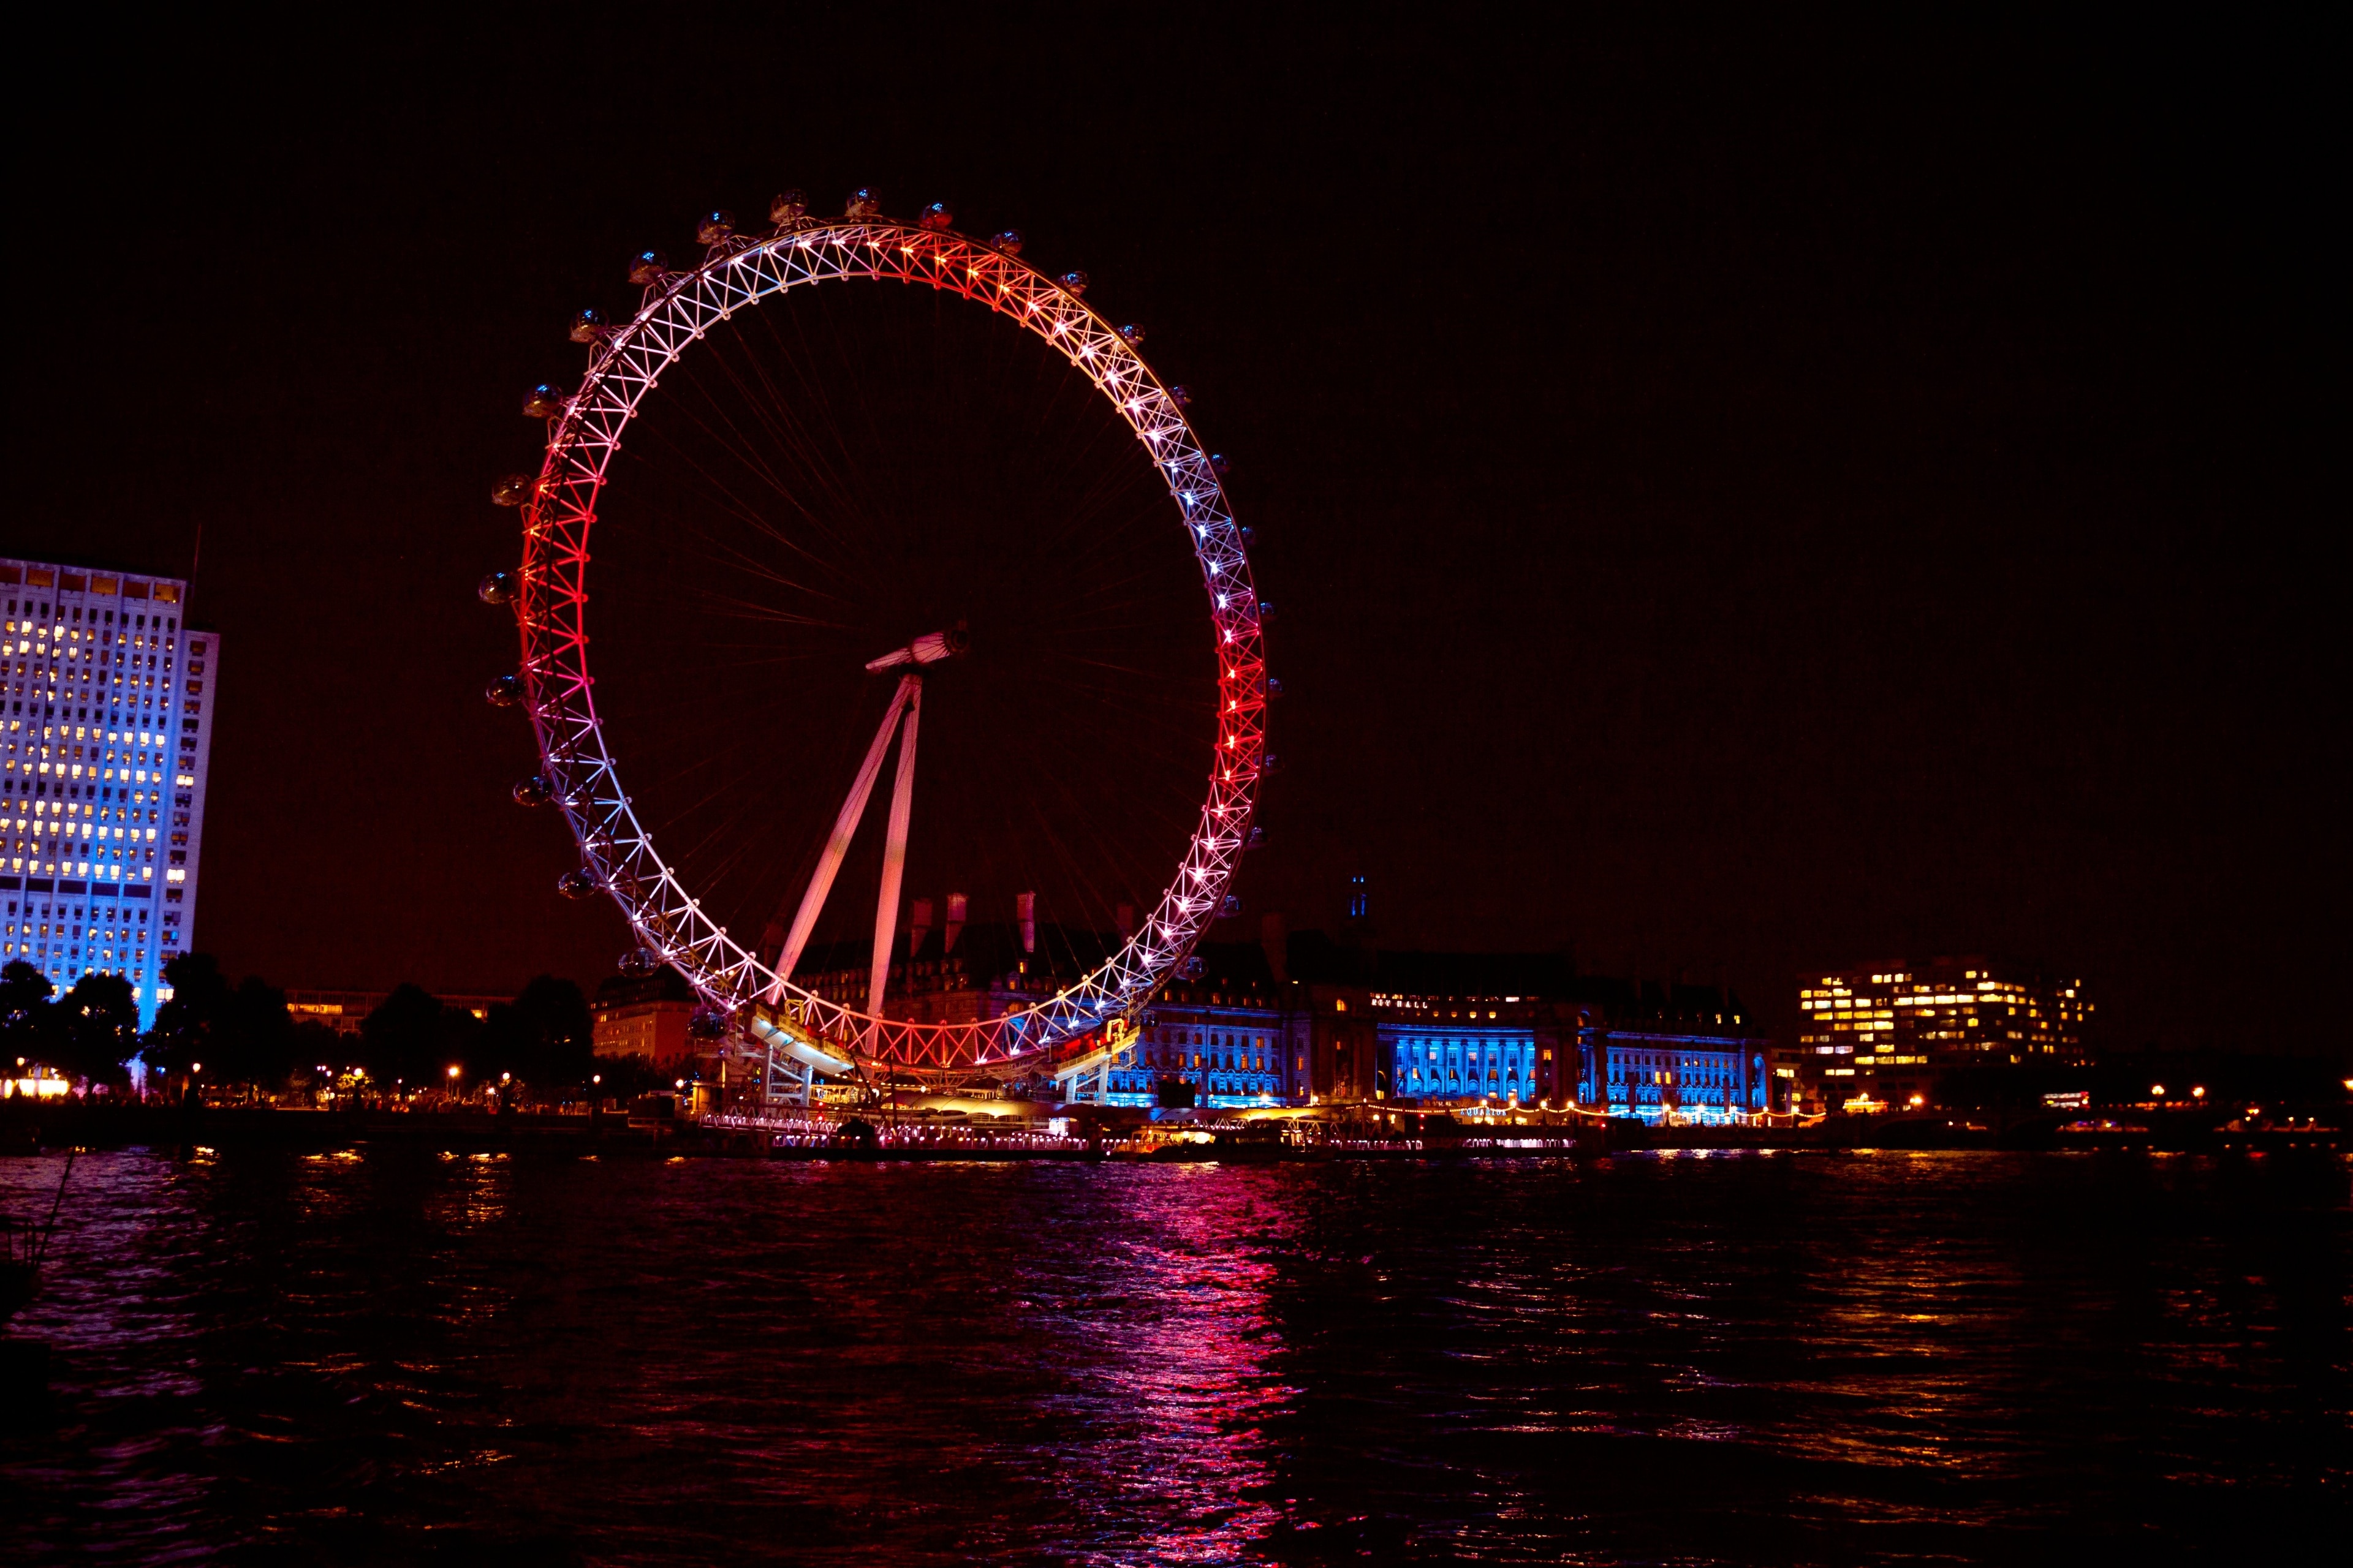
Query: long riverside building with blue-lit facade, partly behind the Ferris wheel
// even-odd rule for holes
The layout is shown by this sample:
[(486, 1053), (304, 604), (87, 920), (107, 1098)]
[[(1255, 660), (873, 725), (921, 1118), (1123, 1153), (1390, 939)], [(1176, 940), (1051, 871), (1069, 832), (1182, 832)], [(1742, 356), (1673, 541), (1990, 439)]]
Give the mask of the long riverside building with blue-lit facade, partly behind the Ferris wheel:
[[(1038, 922), (1026, 903), (1014, 922), (972, 924), (962, 896), (948, 898), (944, 924), (934, 910), (913, 900), (899, 931), (882, 1001), (892, 1018), (1002, 1018), (1125, 940)], [(1344, 940), (1287, 931), (1268, 914), (1257, 943), (1202, 943), (1089, 1093), (1129, 1107), (1398, 1105), (1473, 1117), (1584, 1107), (1647, 1121), (1788, 1110), (1762, 1032), (1729, 990), (1579, 976), (1565, 954), (1381, 952), (1367, 938), (1358, 879)], [(772, 931), (767, 945), (779, 940)], [(868, 961), (864, 940), (812, 947), (795, 980), (864, 1006)], [(638, 997), (628, 985), (645, 983), (598, 990), (600, 1053), (624, 1027), (654, 1027), (649, 1011), (626, 1013), (621, 997)], [(668, 1006), (666, 1027), (687, 1051), (682, 987)]]

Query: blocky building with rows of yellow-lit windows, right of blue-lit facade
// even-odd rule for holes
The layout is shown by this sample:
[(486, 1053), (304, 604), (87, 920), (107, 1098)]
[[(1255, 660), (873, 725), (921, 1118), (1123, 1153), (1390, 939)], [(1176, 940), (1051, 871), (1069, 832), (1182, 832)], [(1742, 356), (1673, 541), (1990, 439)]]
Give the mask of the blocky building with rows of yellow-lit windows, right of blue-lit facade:
[(2082, 980), (1958, 957), (1802, 976), (1798, 1056), (1826, 1105), (1934, 1103), (1937, 1081), (1979, 1067), (2085, 1060)]

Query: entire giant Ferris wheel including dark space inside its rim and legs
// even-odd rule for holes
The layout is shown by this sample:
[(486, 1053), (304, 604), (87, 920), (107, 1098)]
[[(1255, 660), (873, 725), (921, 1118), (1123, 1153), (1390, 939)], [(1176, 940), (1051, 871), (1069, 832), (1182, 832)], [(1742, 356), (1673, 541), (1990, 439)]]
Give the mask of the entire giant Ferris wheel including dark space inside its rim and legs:
[[(487, 696), (541, 755), (515, 799), (562, 813), (560, 891), (621, 907), (624, 973), (678, 971), (762, 1105), (1101, 1098), (1264, 837), (1271, 609), (1226, 461), (1144, 327), (1016, 230), (859, 190), (694, 237), (574, 320), (586, 374), (527, 397), (539, 470), (496, 487), (522, 559), (482, 597), (520, 663)], [(892, 1006), (911, 879), (1019, 910), (1019, 1004)]]

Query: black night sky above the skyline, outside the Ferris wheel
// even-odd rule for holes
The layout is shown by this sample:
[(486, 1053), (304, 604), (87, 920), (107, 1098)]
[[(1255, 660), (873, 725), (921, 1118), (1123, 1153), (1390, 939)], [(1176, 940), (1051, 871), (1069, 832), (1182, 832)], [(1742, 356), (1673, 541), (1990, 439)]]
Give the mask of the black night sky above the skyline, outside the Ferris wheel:
[(633, 252), (871, 183), (1092, 273), (1235, 456), (1287, 696), (1233, 936), (1360, 870), (1384, 945), (1781, 1027), (1807, 966), (2007, 952), (2108, 1048), (2344, 1041), (2318, 33), (1158, 16), (21, 38), (0, 548), (202, 534), (198, 945), (609, 973), (478, 696), (489, 487)]

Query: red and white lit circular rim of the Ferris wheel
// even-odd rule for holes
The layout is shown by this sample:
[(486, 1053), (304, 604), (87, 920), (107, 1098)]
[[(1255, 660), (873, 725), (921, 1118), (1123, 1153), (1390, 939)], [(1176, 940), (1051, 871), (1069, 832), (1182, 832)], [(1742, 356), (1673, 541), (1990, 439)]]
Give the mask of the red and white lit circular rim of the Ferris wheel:
[[(1247, 846), (1266, 741), (1261, 607), (1242, 531), (1217, 463), (1179, 400), (1118, 329), (1082, 303), (1082, 277), (1047, 277), (1014, 254), (944, 226), (882, 216), (791, 219), (751, 240), (725, 235), (701, 266), (659, 275), (635, 317), (591, 329), (581, 388), (548, 423), (546, 458), (525, 501), (518, 597), (522, 682), (544, 773), (581, 849), (572, 879), (621, 905), (638, 940), (713, 1006), (776, 1004), (838, 1053), (896, 1067), (1002, 1067), (1052, 1056), (1134, 1013), (1217, 919)], [(922, 1025), (856, 1011), (795, 985), (704, 914), (699, 898), (638, 823), (605, 745), (588, 672), (588, 534), (621, 435), (640, 402), (711, 327), (795, 287), (852, 277), (927, 284), (1007, 315), (1087, 374), (1136, 433), (1167, 482), (1202, 571), (1219, 656), (1219, 733), (1200, 823), (1151, 917), (1101, 966), (1052, 999), (1005, 1018)], [(576, 334), (581, 336), (581, 334)], [(579, 884), (574, 884), (579, 886)]]

